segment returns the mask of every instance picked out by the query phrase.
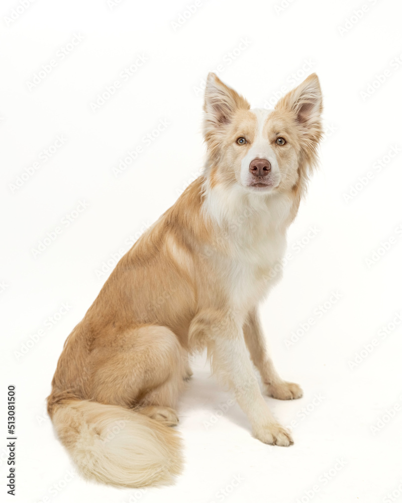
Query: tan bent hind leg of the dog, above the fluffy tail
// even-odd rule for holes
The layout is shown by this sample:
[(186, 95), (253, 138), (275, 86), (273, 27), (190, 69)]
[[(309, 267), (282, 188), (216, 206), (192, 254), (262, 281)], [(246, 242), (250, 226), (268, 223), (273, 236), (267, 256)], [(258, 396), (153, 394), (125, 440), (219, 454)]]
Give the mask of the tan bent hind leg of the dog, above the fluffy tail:
[(176, 406), (186, 375), (186, 352), (165, 326), (145, 325), (122, 334), (124, 345), (110, 355), (105, 347), (93, 374), (92, 399), (135, 408), (176, 424)]

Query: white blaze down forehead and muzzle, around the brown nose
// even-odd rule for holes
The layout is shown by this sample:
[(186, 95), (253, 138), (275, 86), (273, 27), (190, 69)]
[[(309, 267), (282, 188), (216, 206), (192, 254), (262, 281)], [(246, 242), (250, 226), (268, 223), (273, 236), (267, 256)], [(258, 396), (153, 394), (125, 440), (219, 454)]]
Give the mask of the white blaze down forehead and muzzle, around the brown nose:
[[(266, 192), (267, 190), (277, 187), (280, 182), (278, 161), (276, 159), (274, 149), (269, 143), (269, 139), (265, 130), (265, 124), (269, 112), (267, 110), (258, 108), (250, 110), (250, 112), (253, 113), (257, 118), (257, 130), (254, 139), (252, 140), (251, 148), (249, 148), (247, 154), (242, 159), (240, 179), (242, 185), (249, 188), (253, 192), (260, 192), (261, 190), (263, 192)], [(264, 189), (251, 187), (251, 184), (253, 183), (253, 181), (255, 181), (255, 177), (250, 173), (249, 167), (251, 161), (254, 159), (267, 159), (270, 162), (271, 171), (266, 177), (267, 181), (269, 180), (269, 187), (266, 187)]]

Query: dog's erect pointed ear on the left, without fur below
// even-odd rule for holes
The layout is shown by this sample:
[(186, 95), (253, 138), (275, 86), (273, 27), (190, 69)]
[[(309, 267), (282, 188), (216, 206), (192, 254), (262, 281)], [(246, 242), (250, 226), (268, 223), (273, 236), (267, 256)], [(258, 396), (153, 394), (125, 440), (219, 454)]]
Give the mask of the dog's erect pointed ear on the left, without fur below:
[(206, 125), (219, 127), (229, 124), (239, 108), (248, 110), (249, 103), (210, 72), (205, 88), (204, 111)]

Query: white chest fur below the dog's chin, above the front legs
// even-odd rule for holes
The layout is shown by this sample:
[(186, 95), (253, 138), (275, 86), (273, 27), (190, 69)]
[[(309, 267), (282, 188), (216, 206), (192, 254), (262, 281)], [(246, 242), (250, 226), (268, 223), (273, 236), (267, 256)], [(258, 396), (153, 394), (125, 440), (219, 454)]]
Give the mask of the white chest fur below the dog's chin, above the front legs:
[[(222, 253), (210, 257), (234, 309), (248, 310), (280, 279), (291, 202), (283, 195), (254, 196), (236, 190), (206, 194)], [(272, 275), (272, 271), (275, 274)]]

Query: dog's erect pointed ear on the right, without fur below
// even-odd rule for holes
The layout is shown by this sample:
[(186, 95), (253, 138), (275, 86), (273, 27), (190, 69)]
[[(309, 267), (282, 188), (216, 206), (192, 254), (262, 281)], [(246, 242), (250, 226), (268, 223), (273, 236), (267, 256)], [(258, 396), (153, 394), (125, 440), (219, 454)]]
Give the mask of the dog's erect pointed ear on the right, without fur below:
[(298, 124), (310, 127), (320, 122), (323, 100), (316, 73), (309, 75), (299, 86), (281, 98), (275, 109), (292, 111)]

